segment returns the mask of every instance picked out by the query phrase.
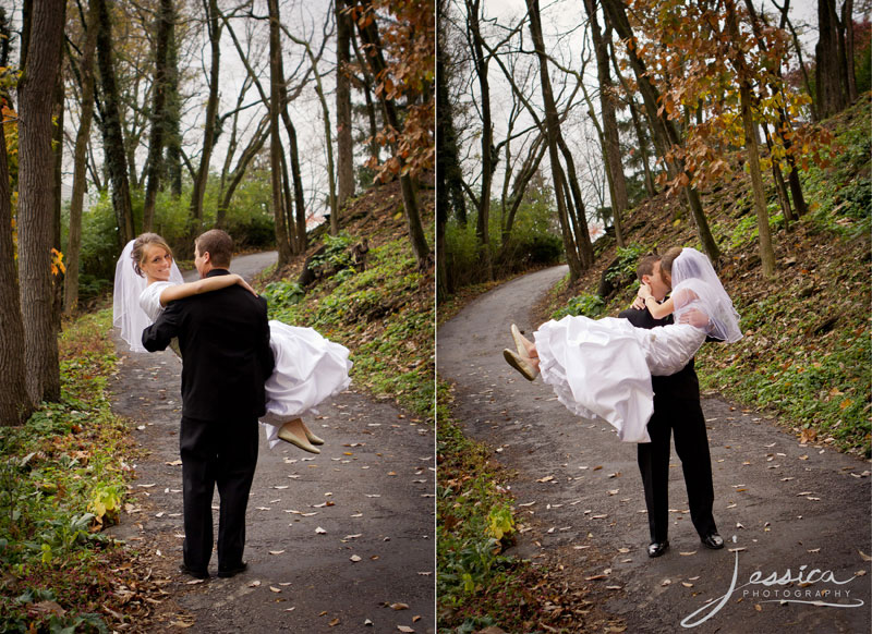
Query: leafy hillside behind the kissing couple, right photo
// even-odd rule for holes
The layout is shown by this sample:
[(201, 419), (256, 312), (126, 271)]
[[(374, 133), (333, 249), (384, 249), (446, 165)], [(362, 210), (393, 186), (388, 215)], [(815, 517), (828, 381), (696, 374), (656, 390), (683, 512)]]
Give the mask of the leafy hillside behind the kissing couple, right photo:
[[(744, 338), (703, 346), (697, 367), (705, 391), (764, 409), (802, 441), (869, 456), (870, 94), (825, 125), (836, 156), (801, 176), (807, 216), (786, 225), (772, 174), (764, 174), (777, 258), (772, 281), (761, 273), (750, 178), (737, 167), (732, 178), (702, 192), (722, 251), (719, 275)], [(567, 312), (616, 315), (635, 294), (639, 255), (674, 245), (702, 248), (689, 211), (665, 195), (632, 210), (623, 225), (627, 248), (618, 249), (613, 237), (600, 240), (595, 266), (552, 294), (540, 307), (543, 319)], [(616, 260), (611, 270), (622, 288), (600, 303), (593, 295)]]

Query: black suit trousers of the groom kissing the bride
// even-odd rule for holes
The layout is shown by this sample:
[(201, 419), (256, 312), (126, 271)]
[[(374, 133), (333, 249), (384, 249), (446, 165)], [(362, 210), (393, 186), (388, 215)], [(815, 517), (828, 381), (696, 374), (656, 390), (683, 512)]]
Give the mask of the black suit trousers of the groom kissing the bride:
[(652, 541), (665, 541), (669, 532), (669, 439), (675, 432), (675, 449), (681, 460), (688, 489), (690, 517), (704, 537), (716, 531), (712, 515), (714, 487), (708, 436), (699, 399), (657, 399), (647, 424), (651, 442), (639, 444), (639, 471), (645, 489)]

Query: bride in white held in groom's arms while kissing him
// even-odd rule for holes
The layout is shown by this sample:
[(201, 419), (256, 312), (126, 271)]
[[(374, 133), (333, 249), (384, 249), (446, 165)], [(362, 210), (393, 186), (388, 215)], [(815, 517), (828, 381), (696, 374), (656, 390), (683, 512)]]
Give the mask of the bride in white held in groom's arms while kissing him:
[(675, 324), (645, 330), (627, 319), (570, 315), (540, 326), (535, 343), (512, 325), (517, 352), (505, 350), (506, 361), (531, 381), (542, 375), (577, 416), (605, 419), (626, 442), (651, 442), (652, 375), (679, 371), (706, 337), (730, 343), (742, 337), (739, 315), (705, 255), (669, 249), (661, 270), (671, 297), (658, 304), (643, 283), (639, 298), (652, 317), (674, 314)]

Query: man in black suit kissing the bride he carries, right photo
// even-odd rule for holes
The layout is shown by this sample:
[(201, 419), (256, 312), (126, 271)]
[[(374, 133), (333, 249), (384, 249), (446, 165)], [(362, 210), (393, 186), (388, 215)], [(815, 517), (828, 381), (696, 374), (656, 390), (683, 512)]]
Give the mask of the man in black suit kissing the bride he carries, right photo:
[[(642, 258), (637, 276), (642, 283), (651, 286), (651, 293), (657, 302), (663, 302), (671, 290), (671, 280), (664, 278), (661, 271), (659, 256)], [(654, 319), (644, 305), (638, 304), (619, 316), (629, 319), (637, 328), (650, 329), (673, 322), (671, 315)], [(724, 539), (717, 534), (712, 515), (712, 459), (693, 359), (677, 374), (651, 379), (654, 387), (654, 414), (647, 424), (651, 442), (639, 444), (638, 456), (651, 531), (647, 554), (659, 557), (669, 548), (669, 437), (673, 432), (675, 449), (685, 473), (693, 526), (703, 546), (724, 548)]]

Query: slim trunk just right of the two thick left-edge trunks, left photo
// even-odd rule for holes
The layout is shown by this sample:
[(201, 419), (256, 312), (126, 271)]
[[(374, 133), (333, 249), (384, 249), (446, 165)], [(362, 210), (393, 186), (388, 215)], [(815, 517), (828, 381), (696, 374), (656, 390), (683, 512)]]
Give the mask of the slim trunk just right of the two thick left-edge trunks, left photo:
[(97, 48), (99, 20), (98, 0), (89, 0), (86, 24), (84, 24), (85, 45), (82, 49), (82, 63), (78, 73), (82, 80), (82, 105), (78, 114), (78, 129), (73, 150), (73, 193), (70, 199), (70, 232), (66, 241), (66, 277), (64, 279), (63, 309), (72, 315), (78, 304), (78, 259), (82, 251), (82, 209), (85, 202), (88, 139), (94, 119), (94, 53)]

